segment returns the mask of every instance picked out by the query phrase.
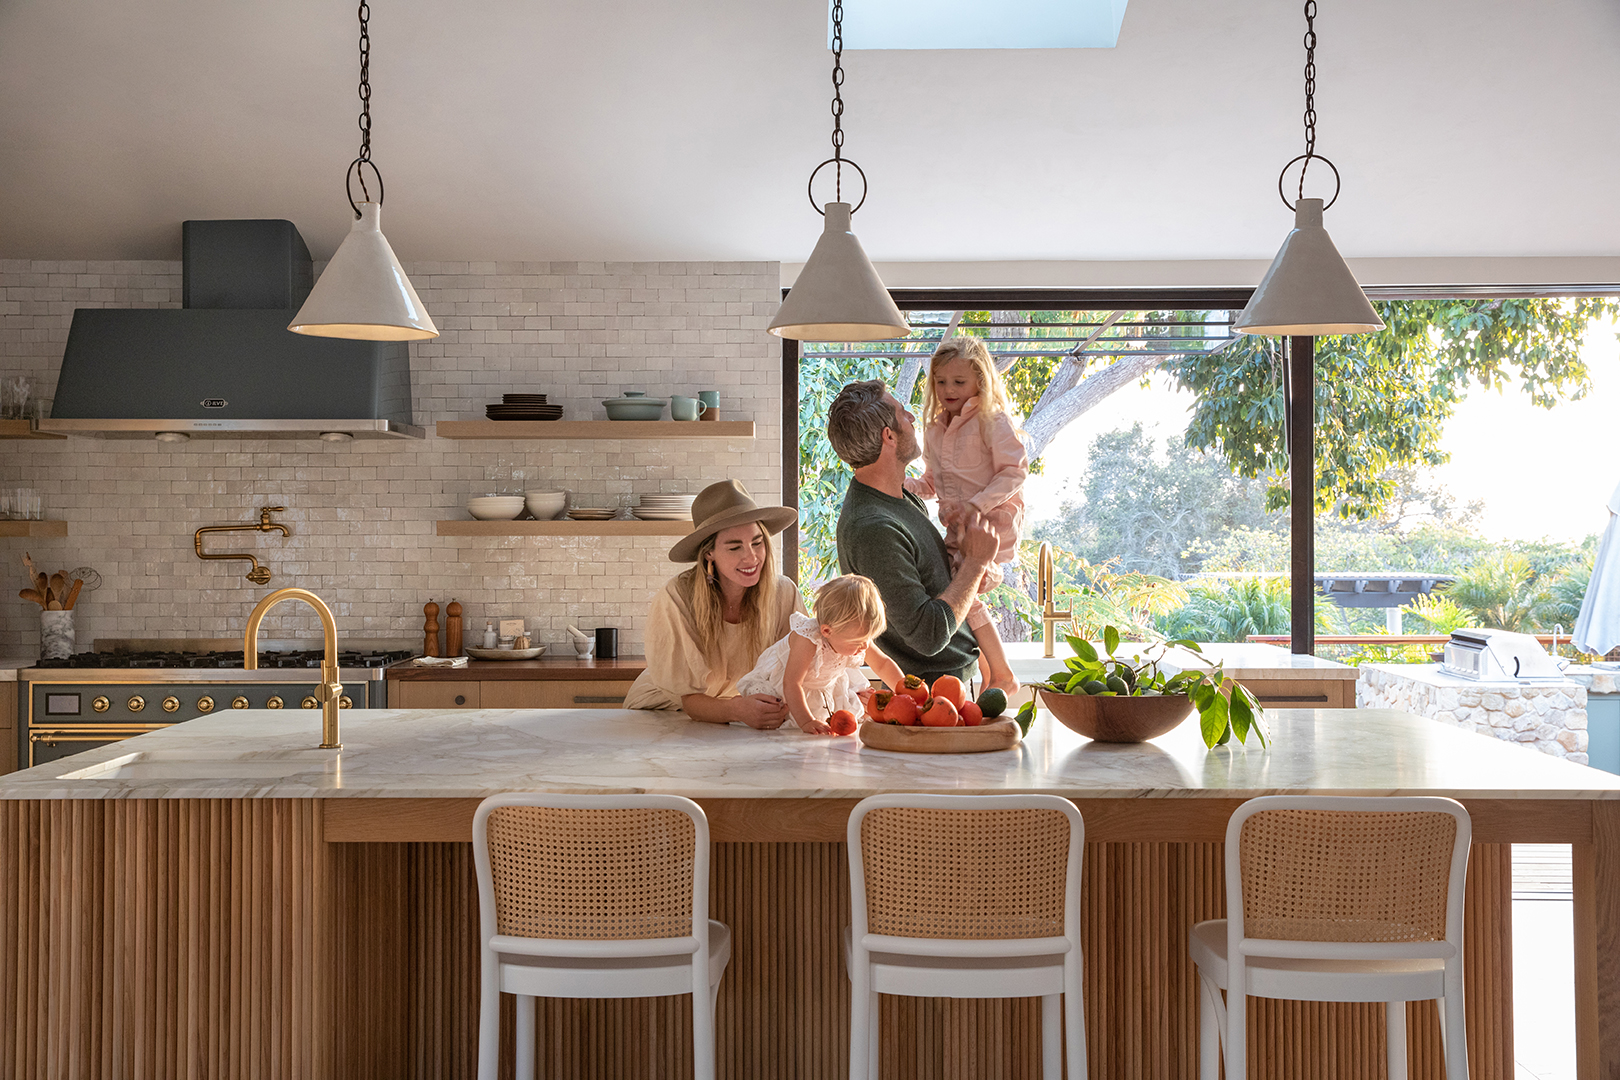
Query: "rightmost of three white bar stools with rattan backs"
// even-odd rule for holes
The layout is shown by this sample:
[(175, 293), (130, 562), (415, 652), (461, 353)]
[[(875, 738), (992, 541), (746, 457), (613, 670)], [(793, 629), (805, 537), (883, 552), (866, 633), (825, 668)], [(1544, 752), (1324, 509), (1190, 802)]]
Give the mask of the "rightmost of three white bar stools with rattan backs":
[[(1244, 1077), (1247, 997), (1382, 1001), (1406, 1080), (1406, 1002), (1440, 1009), (1447, 1080), (1468, 1080), (1463, 891), (1471, 826), (1450, 798), (1267, 795), (1226, 824), (1226, 918), (1192, 928), (1199, 1078)], [(1221, 1001), (1221, 991), (1226, 991)]]

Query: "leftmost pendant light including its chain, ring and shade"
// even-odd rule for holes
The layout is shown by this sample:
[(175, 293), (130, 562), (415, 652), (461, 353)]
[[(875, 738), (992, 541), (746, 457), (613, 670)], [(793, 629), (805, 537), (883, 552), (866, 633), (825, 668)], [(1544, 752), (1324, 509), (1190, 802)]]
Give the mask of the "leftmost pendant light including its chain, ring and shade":
[[(382, 173), (371, 162), (371, 6), (360, 5), (360, 157), (343, 173), (355, 223), (326, 264), (298, 316), (287, 327), (293, 334), (347, 337), (364, 342), (420, 342), (439, 337), (405, 267), (382, 236)], [(377, 181), (371, 201), (366, 167)], [(360, 180), (361, 201), (355, 202), (353, 181)]]

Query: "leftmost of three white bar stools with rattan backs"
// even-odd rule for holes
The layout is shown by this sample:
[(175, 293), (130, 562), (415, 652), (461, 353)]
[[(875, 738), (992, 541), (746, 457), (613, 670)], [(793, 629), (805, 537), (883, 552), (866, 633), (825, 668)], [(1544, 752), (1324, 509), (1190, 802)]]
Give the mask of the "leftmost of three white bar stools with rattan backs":
[(501, 994), (517, 1077), (535, 1075), (535, 997), (692, 994), (693, 1077), (714, 1077), (731, 931), (708, 918), (708, 819), (676, 795), (486, 798), (473, 814), (483, 999), (478, 1078), (496, 1080)]

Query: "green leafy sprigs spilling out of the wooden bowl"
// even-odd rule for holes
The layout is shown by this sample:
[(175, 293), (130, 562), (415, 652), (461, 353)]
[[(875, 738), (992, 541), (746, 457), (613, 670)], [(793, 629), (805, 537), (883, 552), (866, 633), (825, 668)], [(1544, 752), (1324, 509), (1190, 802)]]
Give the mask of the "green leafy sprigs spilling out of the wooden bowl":
[[(1246, 743), (1251, 730), (1262, 746), (1267, 745), (1264, 709), (1259, 698), (1249, 693), (1247, 687), (1228, 678), (1218, 664), (1209, 670), (1183, 669), (1174, 675), (1160, 667), (1165, 651), (1171, 646), (1181, 646), (1194, 654), (1202, 653), (1196, 641), (1158, 641), (1147, 646), (1145, 656), (1132, 654), (1131, 659), (1124, 659), (1119, 656), (1118, 627), (1103, 627), (1102, 640), (1103, 653), (1098, 654), (1097, 646), (1087, 638), (1071, 635), (1068, 643), (1074, 649), (1074, 656), (1063, 662), (1061, 672), (1034, 685), (1047, 693), (1092, 698), (1186, 695), (1199, 711), (1199, 730), (1205, 746), (1215, 748), (1234, 733), (1239, 743)], [(1022, 717), (1022, 712), (1019, 716)], [(1034, 709), (1030, 716), (1034, 716)]]

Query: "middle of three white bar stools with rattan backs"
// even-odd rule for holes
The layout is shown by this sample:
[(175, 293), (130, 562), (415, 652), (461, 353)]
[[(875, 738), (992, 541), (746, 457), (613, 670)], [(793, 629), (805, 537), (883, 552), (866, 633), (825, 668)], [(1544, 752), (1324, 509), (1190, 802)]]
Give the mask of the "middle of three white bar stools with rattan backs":
[(1042, 1077), (1085, 1077), (1085, 824), (1055, 795), (875, 795), (849, 816), (849, 1080), (878, 1080), (878, 994), (1040, 997)]

